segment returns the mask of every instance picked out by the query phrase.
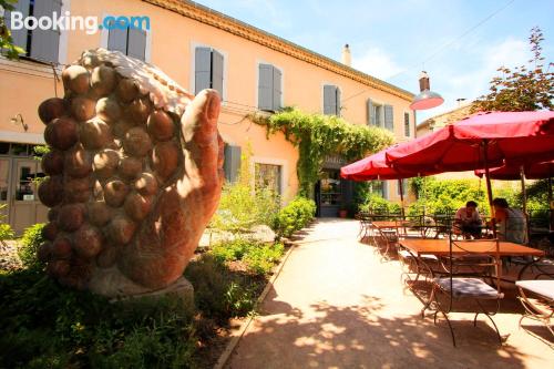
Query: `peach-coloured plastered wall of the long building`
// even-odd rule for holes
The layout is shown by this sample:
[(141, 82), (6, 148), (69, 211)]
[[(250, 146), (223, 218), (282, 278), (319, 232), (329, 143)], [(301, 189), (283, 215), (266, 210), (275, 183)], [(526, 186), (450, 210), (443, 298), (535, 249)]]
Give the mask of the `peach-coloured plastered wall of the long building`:
[[(367, 84), (339, 75), (315, 64), (301, 61), (288, 54), (275, 51), (265, 45), (243, 39), (215, 27), (183, 17), (161, 7), (138, 0), (64, 0), (72, 16), (98, 16), (101, 19), (107, 14), (147, 16), (151, 31), (147, 37), (146, 61), (160, 66), (186, 90), (194, 92), (194, 48), (208, 45), (225, 57), (224, 62), (224, 96), (225, 100), (219, 131), (228, 143), (245, 147), (250, 142), (253, 153), (258, 158), (281, 161), (285, 173), (286, 197), (291, 197), (298, 189), (296, 162), (298, 151), (288, 143), (283, 134), (266, 139), (265, 129), (253, 124), (244, 116), (255, 112), (258, 91), (258, 63), (270, 63), (283, 71), (284, 106), (296, 105), (305, 112), (322, 112), (324, 84), (335, 84), (341, 90), (342, 116), (355, 124), (367, 124), (366, 101), (371, 98), (380, 103), (393, 105), (394, 135), (397, 141), (404, 141), (403, 114), (410, 113), (411, 136), (414, 135), (413, 113), (409, 110), (410, 101), (391, 93), (370, 88)], [(86, 49), (105, 47), (106, 32), (86, 34), (85, 31), (69, 31), (62, 34), (60, 48), (66, 54), (61, 63), (69, 63), (79, 58)], [(150, 58), (148, 58), (150, 55)], [(37, 116), (37, 106), (44, 99), (54, 95), (54, 80), (51, 68), (33, 62), (10, 62), (0, 60), (0, 140), (40, 142), (43, 124)], [(4, 64), (11, 64), (9, 69)], [(29, 73), (39, 74), (31, 76)], [(58, 94), (63, 94), (63, 88), (55, 82)], [(363, 93), (359, 94), (361, 91)], [(356, 98), (350, 96), (359, 94)], [(22, 114), (29, 124), (28, 133), (10, 122), (17, 113)], [(7, 135), (13, 132), (16, 135)], [(10, 140), (11, 137), (11, 140)], [(23, 139), (24, 137), (24, 139)], [(390, 198), (398, 201), (396, 183), (391, 181)]]

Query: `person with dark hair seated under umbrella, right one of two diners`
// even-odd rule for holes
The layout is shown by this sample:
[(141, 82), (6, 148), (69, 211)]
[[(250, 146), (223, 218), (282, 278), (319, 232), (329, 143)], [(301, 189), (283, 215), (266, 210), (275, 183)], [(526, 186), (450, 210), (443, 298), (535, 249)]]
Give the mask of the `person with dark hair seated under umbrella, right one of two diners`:
[(496, 197), (492, 201), (494, 221), (496, 222), (496, 237), (516, 244), (527, 243), (527, 222), (522, 211), (512, 208), (505, 198)]

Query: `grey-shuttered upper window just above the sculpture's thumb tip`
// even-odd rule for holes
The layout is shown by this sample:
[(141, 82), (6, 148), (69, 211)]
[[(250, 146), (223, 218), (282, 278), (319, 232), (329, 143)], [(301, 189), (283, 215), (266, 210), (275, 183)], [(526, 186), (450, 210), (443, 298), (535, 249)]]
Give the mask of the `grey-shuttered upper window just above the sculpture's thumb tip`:
[(194, 93), (214, 89), (223, 100), (223, 54), (212, 48), (196, 48), (194, 68)]

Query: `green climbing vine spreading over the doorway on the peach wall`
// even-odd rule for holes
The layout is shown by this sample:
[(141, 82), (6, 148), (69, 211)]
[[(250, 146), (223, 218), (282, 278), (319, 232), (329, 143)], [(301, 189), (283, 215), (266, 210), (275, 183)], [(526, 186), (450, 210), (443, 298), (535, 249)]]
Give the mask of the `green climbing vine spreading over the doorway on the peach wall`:
[(297, 164), (300, 194), (311, 197), (321, 166), (328, 155), (340, 155), (348, 162), (362, 158), (393, 142), (390, 132), (348, 123), (335, 115), (308, 114), (289, 107), (270, 115), (250, 119), (267, 127), (267, 134), (283, 132), (299, 148)]

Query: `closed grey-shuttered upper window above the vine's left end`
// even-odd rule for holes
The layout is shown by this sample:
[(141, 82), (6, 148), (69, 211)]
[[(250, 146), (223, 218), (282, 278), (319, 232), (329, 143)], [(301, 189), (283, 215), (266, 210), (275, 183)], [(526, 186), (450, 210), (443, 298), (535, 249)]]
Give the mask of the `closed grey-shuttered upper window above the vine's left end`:
[(280, 110), (283, 73), (274, 65), (259, 64), (258, 79), (258, 109)]

